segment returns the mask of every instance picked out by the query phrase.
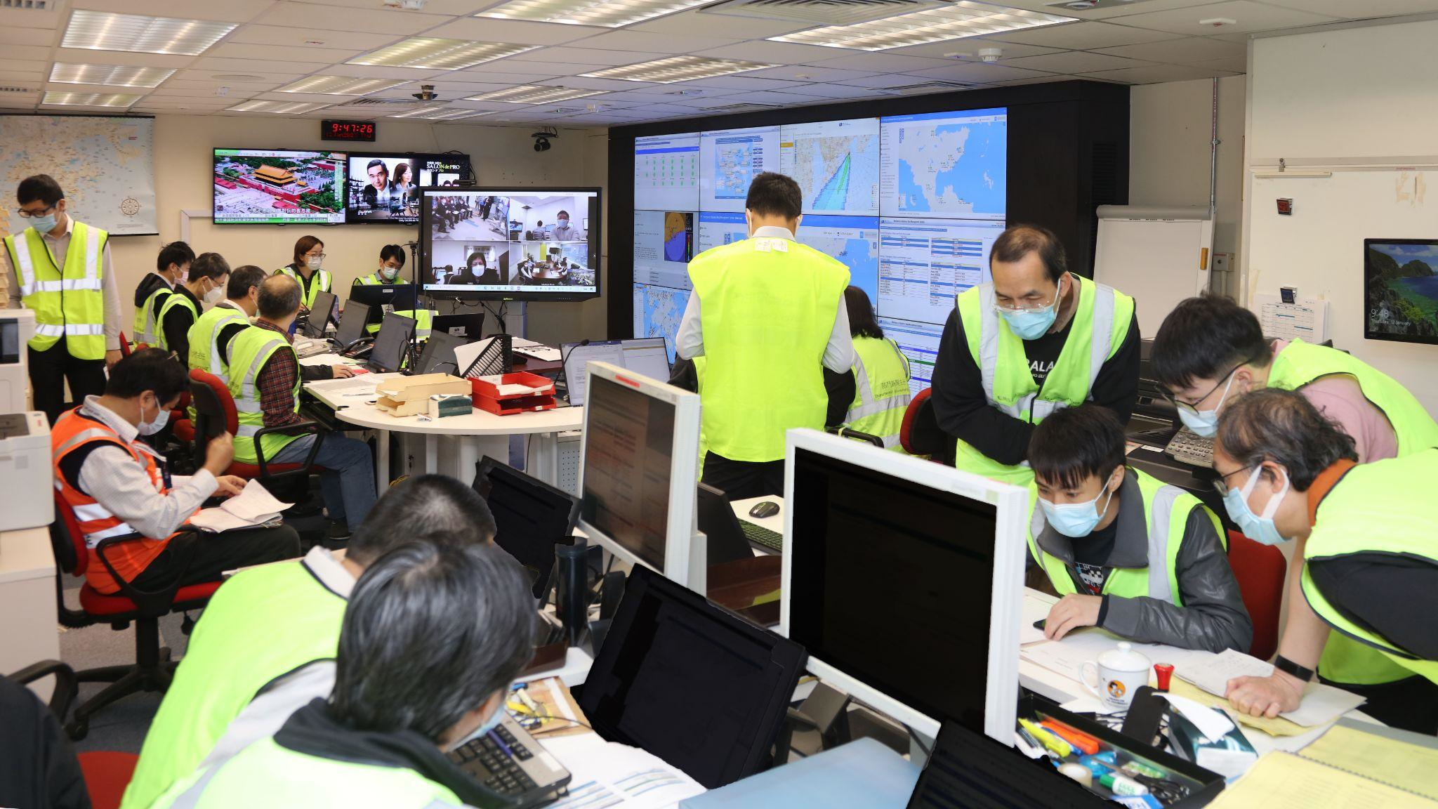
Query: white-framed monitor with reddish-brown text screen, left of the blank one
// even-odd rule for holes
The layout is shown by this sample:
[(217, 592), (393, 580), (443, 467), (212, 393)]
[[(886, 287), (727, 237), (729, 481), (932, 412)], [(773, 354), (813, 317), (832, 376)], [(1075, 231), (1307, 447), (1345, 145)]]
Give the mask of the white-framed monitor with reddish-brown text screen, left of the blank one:
[(703, 593), (699, 394), (590, 363), (580, 452), (580, 527), (590, 540)]

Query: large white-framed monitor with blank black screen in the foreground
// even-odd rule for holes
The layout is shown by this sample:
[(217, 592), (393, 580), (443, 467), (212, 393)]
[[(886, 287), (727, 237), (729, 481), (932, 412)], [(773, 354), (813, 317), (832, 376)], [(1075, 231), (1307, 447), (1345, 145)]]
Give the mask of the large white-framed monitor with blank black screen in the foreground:
[(818, 430), (787, 459), (779, 631), (810, 671), (930, 738), (1012, 744), (1028, 491)]

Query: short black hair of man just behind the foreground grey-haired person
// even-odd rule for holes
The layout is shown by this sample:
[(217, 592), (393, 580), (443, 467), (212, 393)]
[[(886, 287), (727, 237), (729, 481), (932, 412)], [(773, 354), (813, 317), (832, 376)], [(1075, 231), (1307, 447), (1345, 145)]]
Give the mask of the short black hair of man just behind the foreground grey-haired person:
[(472, 487), (449, 475), (420, 475), (384, 492), (349, 540), (345, 556), (355, 564), (370, 564), (417, 534), (464, 547), (489, 544), (496, 531), (489, 504)]

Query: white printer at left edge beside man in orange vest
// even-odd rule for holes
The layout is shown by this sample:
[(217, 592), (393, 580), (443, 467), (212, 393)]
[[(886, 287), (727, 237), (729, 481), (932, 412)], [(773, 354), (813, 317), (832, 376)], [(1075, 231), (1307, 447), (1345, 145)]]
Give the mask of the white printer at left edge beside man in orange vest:
[(40, 528), (55, 521), (50, 422), (45, 413), (0, 415), (0, 531)]

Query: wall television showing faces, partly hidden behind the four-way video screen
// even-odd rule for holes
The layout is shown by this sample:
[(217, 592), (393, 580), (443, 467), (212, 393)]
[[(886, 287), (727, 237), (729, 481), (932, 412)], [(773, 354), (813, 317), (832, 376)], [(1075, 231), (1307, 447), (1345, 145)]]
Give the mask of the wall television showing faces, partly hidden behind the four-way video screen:
[(345, 222), (414, 225), (417, 189), (453, 187), (469, 173), (467, 154), (349, 153)]

